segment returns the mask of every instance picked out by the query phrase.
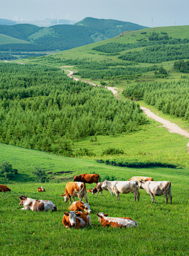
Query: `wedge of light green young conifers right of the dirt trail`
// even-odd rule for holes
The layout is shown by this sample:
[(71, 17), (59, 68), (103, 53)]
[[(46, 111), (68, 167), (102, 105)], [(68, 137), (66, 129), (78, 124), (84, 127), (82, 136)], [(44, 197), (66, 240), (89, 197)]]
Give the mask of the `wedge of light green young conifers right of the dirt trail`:
[(123, 94), (189, 121), (189, 81), (138, 83), (128, 85)]

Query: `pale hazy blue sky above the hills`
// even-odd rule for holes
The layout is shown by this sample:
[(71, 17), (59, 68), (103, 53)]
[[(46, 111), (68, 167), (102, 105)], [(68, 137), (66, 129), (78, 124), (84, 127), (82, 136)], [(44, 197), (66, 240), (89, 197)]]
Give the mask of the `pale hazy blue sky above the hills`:
[(189, 0), (0, 0), (2, 19), (42, 21), (67, 15), (71, 21), (95, 17), (147, 27), (189, 25)]

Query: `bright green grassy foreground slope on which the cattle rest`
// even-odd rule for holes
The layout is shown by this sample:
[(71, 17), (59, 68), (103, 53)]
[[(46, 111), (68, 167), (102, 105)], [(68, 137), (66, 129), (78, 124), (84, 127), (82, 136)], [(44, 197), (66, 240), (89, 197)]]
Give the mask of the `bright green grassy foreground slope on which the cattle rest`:
[[(0, 197), (0, 248), (5, 254), (33, 255), (43, 252), (43, 255), (125, 255), (127, 250), (127, 254), (137, 255), (187, 255), (189, 209), (187, 198), (183, 197), (183, 194), (187, 194), (187, 169), (119, 168), (98, 164), (94, 160), (54, 156), (11, 145), (0, 144), (0, 149), (0, 162), (9, 160), (19, 172), (10, 184), (1, 179), (11, 189), (11, 192), (2, 193)], [(44, 168), (48, 173), (53, 172), (53, 175), (49, 175), (50, 183), (43, 184), (46, 193), (38, 194), (37, 188), (42, 184), (31, 181), (31, 171), (35, 166)], [(65, 174), (57, 174), (61, 171), (65, 171)], [(156, 197), (157, 203), (151, 204), (150, 196), (144, 190), (140, 190), (139, 202), (134, 201), (132, 193), (120, 194), (120, 201), (117, 201), (115, 195), (112, 198), (106, 191), (102, 197), (98, 195), (98, 198), (87, 194), (93, 211), (93, 226), (67, 230), (61, 223), (64, 213), (69, 209), (69, 203), (61, 198), (65, 183), (72, 180), (73, 175), (92, 171), (97, 172), (102, 179), (105, 175), (113, 175), (120, 180), (133, 175), (146, 175), (155, 180), (170, 180), (172, 205), (165, 205), (163, 196)], [(55, 183), (52, 183), (53, 180)], [(60, 183), (60, 180), (63, 182)], [(87, 184), (87, 189), (93, 186), (95, 184)], [(53, 201), (57, 205), (57, 212), (35, 213), (21, 210), (18, 197), (22, 194), (29, 198)], [(109, 216), (129, 216), (137, 221), (138, 228), (102, 228), (96, 216), (99, 212), (108, 213)], [(23, 240), (28, 243), (22, 243)], [(81, 246), (83, 240), (86, 242), (85, 247)]]

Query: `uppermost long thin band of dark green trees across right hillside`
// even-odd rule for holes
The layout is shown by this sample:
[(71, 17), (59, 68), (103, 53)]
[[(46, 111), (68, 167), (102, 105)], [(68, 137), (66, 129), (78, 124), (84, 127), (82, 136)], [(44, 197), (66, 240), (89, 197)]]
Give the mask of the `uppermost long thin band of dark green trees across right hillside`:
[(150, 46), (157, 46), (157, 45), (175, 45), (175, 44), (185, 44), (189, 43), (189, 39), (185, 38), (181, 40), (180, 38), (172, 39), (172, 40), (152, 40), (147, 41), (143, 38), (143, 41), (137, 43), (106, 43), (98, 47), (94, 47), (92, 50), (101, 51), (105, 53), (117, 53), (120, 51), (131, 50), (140, 47), (150, 47)]

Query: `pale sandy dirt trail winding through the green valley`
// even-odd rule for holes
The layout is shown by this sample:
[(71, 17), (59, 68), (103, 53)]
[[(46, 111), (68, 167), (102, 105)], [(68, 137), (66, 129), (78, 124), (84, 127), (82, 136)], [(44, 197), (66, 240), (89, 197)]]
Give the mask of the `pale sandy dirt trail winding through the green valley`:
[[(76, 78), (73, 77), (73, 71), (70, 70), (65, 70), (68, 71), (68, 77), (74, 79), (75, 81), (79, 81), (80, 78)], [(88, 83), (89, 85), (94, 85), (94, 86), (100, 86), (100, 85), (95, 85), (89, 81), (84, 81), (86, 83)], [(117, 96), (117, 91), (115, 90), (116, 87), (108, 87), (105, 86), (105, 88), (107, 88), (109, 91), (113, 92), (114, 96)], [(147, 109), (146, 107), (140, 107), (142, 109), (142, 111), (150, 118), (150, 119), (154, 119), (157, 122), (161, 122), (162, 125), (169, 130), (170, 133), (174, 133), (174, 134), (180, 134), (183, 135), (184, 137), (188, 137), (189, 138), (189, 133), (187, 132), (187, 130), (183, 130), (181, 129), (179, 126), (177, 126), (175, 123), (173, 122), (169, 122), (168, 120), (162, 119), (161, 117), (159, 117), (158, 115), (155, 115), (153, 112), (151, 112), (149, 109)], [(187, 143), (187, 151), (189, 152), (189, 142)]]

